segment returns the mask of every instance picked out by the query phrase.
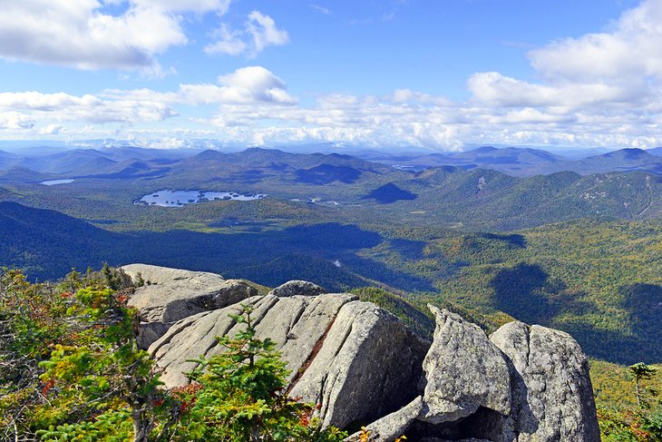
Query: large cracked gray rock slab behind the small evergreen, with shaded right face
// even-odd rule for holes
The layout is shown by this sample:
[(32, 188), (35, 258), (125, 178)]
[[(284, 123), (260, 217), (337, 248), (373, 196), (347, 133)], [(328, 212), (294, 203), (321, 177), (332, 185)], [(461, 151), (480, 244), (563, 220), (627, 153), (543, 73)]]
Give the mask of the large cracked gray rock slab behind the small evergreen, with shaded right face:
[[(349, 294), (268, 295), (243, 303), (254, 306), (256, 336), (273, 339), (291, 370), (289, 396), (320, 404), (316, 415), (325, 426), (382, 417), (417, 395), (429, 344), (384, 309)], [(187, 384), (185, 373), (197, 367), (190, 359), (218, 353), (216, 338), (243, 327), (228, 316), (237, 309), (182, 319), (151, 345), (167, 388)]]

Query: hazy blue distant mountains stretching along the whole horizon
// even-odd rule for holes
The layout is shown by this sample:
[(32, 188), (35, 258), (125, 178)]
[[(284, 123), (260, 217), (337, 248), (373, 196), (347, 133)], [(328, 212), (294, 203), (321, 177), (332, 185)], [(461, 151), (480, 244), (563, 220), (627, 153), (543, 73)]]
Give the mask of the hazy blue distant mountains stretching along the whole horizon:
[[(301, 147), (301, 146), (297, 146)], [(331, 150), (330, 144), (311, 144), (307, 149)], [(293, 147), (294, 148), (294, 147)], [(324, 148), (324, 149), (322, 149)], [(645, 171), (662, 173), (662, 148), (621, 149), (613, 152), (563, 151), (568, 156), (533, 148), (482, 146), (467, 152), (389, 152), (347, 148), (339, 153), (294, 153), (278, 149), (248, 148), (240, 152), (185, 149), (146, 149), (132, 145), (100, 145), (96, 149), (69, 149), (46, 146), (19, 153), (0, 151), (0, 171), (21, 167), (63, 178), (98, 176), (109, 179), (138, 177), (165, 178), (184, 184), (186, 177), (202, 179), (205, 173), (229, 182), (255, 183), (278, 177), (292, 181), (324, 184), (356, 182), (369, 174), (395, 171), (420, 172), (453, 166), (460, 169), (489, 169), (511, 176), (530, 177), (555, 172), (582, 175), (606, 172)], [(28, 152), (32, 152), (28, 154)], [(560, 152), (560, 151), (559, 151)], [(589, 156), (586, 156), (589, 155)], [(570, 158), (571, 157), (571, 158)], [(151, 171), (122, 172), (133, 162), (148, 164)], [(168, 170), (166, 171), (165, 168)], [(319, 170), (313, 170), (320, 168)], [(349, 170), (346, 168), (354, 169)], [(326, 169), (326, 171), (323, 171)], [(158, 172), (157, 172), (158, 171)], [(312, 175), (318, 175), (314, 177)], [(345, 178), (338, 178), (343, 175)], [(336, 177), (336, 178), (334, 178)], [(347, 183), (349, 183), (347, 182)]]

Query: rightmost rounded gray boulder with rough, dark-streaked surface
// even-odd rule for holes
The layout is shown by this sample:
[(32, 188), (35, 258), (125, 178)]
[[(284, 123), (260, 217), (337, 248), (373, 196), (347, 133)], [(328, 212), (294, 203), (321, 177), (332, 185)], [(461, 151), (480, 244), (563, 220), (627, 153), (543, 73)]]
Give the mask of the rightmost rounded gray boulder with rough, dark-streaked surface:
[(511, 322), (490, 337), (510, 359), (512, 411), (506, 442), (598, 442), (586, 356), (559, 330)]

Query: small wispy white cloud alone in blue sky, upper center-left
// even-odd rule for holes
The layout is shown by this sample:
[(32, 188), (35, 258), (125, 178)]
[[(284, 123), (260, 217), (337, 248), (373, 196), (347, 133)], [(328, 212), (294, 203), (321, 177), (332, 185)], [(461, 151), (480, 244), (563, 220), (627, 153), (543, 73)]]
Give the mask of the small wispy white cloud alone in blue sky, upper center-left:
[(289, 43), (287, 31), (278, 29), (273, 18), (259, 11), (248, 15), (243, 30), (233, 30), (228, 24), (222, 23), (214, 36), (216, 41), (205, 46), (208, 54), (244, 54), (254, 58), (267, 46)]

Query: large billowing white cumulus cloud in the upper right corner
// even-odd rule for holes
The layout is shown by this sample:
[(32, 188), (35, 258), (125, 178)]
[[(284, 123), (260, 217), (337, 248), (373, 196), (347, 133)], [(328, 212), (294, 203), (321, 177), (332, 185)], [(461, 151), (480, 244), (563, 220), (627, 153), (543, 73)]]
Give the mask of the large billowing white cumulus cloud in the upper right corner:
[(562, 106), (578, 112), (654, 106), (662, 85), (660, 23), (662, 0), (645, 0), (621, 15), (611, 32), (566, 38), (530, 51), (542, 83), (478, 73), (470, 77), (469, 90), (478, 102), (494, 106)]

